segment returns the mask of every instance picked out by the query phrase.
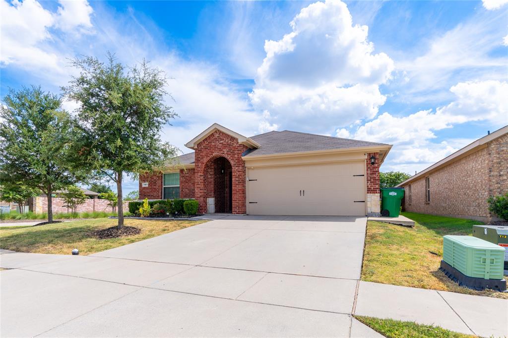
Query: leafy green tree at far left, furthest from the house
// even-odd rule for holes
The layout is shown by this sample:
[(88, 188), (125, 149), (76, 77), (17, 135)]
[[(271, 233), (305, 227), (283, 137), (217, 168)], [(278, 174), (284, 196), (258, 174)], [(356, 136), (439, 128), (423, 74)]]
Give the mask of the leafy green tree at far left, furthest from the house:
[(45, 193), (52, 222), (51, 194), (84, 177), (67, 160), (73, 144), (70, 115), (61, 109), (59, 96), (32, 86), (9, 91), (0, 107), (0, 121), (3, 181), (23, 182)]

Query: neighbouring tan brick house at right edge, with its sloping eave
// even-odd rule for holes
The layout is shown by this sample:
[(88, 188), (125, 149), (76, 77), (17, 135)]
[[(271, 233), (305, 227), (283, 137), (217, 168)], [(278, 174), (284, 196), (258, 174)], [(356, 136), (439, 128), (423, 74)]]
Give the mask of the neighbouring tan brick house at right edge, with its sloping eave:
[[(405, 210), (489, 222), (487, 198), (508, 192), (508, 126), (402, 182)], [(494, 217), (495, 218), (495, 217)]]

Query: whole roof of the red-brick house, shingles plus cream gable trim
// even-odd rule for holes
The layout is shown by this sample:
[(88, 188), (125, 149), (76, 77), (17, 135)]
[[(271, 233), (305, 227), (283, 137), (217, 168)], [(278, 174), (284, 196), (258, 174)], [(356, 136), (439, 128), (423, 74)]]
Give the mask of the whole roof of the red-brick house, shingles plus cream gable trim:
[[(214, 130), (221, 130), (217, 128), (220, 125), (212, 125), (210, 128), (201, 133), (200, 137), (195, 138), (193, 141), (190, 141), (186, 144), (186, 146), (194, 147), (199, 140), (203, 139), (204, 135), (209, 135)], [(223, 127), (224, 128), (224, 127)], [(229, 129), (227, 129), (229, 130)], [(351, 140), (351, 139), (343, 139), (336, 138), (331, 136), (323, 136), (317, 134), (309, 134), (305, 132), (298, 131), (269, 131), (263, 134), (259, 134), (256, 136), (252, 136), (250, 138), (245, 138), (245, 140), (250, 140), (251, 144), (256, 144), (257, 147), (247, 149), (247, 151), (243, 154), (243, 157), (253, 158), (255, 156), (269, 156), (269, 155), (277, 155), (277, 154), (291, 154), (291, 153), (308, 153), (308, 152), (324, 152), (331, 150), (348, 150), (348, 149), (370, 149), (370, 148), (379, 148), (379, 150), (386, 150), (382, 154), (382, 160), (384, 160), (385, 155), (388, 150), (392, 147), (386, 143), (377, 143), (377, 142), (368, 142), (368, 141), (359, 141), (359, 140)], [(194, 152), (183, 154), (177, 157), (176, 165), (189, 166), (193, 165), (195, 161)]]

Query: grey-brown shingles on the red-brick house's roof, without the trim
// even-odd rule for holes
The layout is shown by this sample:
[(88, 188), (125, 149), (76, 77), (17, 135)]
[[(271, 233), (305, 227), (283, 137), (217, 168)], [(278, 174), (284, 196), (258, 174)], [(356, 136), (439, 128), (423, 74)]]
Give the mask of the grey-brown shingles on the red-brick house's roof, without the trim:
[[(386, 143), (358, 141), (335, 138), (332, 136), (308, 134), (298, 131), (269, 131), (250, 137), (261, 145), (258, 149), (249, 149), (244, 156), (273, 155), (303, 151), (362, 148), (388, 146)], [(194, 152), (178, 157), (181, 164), (194, 163)]]

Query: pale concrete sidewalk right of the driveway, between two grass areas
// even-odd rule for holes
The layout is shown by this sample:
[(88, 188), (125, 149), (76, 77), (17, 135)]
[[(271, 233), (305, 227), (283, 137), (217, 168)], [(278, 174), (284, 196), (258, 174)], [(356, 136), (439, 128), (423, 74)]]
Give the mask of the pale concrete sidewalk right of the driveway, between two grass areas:
[(360, 282), (356, 315), (433, 324), (483, 337), (508, 336), (508, 300)]

